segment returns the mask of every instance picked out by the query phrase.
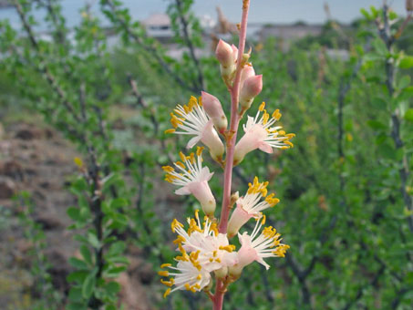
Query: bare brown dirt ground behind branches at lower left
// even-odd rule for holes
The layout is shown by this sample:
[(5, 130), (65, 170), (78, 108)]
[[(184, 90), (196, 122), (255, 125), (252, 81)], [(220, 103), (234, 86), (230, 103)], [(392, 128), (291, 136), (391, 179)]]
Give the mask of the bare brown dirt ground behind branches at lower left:
[[(12, 197), (28, 191), (34, 206), (33, 218), (46, 233), (46, 257), (54, 286), (65, 294), (66, 276), (71, 267), (67, 260), (76, 256), (74, 232), (67, 207), (76, 204), (67, 191), (68, 177), (76, 172), (76, 149), (54, 129), (38, 124), (0, 123), (0, 305), (2, 309), (31, 309), (33, 279), (29, 273), (31, 244), (23, 236), (15, 214), (18, 204)], [(65, 242), (62, 243), (62, 240)], [(154, 272), (139, 258), (139, 249), (129, 251), (129, 269), (122, 274), (121, 301), (127, 309), (150, 309), (147, 300)]]

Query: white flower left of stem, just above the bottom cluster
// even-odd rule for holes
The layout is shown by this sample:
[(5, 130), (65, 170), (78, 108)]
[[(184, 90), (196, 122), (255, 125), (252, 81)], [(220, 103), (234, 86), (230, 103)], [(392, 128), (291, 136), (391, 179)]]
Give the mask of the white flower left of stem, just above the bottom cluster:
[(177, 171), (170, 166), (164, 166), (162, 169), (167, 172), (165, 180), (174, 185), (181, 186), (175, 191), (177, 195), (192, 194), (201, 203), (202, 211), (208, 216), (213, 216), (216, 202), (213, 197), (208, 181), (211, 180), (213, 172), (208, 167), (202, 167), (202, 149), (198, 148), (195, 154), (185, 156), (180, 152), (181, 160), (174, 163)]

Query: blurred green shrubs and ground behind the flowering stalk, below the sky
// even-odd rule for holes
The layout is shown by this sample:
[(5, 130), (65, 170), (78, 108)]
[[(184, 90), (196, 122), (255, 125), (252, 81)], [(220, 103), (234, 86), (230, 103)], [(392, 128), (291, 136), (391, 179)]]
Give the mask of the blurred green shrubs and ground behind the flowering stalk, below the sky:
[[(99, 14), (86, 3), (70, 29), (57, 0), (10, 3), (21, 22), (0, 21), (2, 307), (207, 309), (206, 295), (161, 297), (170, 221), (199, 207), (162, 181), (186, 144), (163, 131), (202, 89), (229, 107), (212, 51), (218, 38), (236, 44), (236, 26), (220, 11), (205, 28), (191, 0), (146, 23), (121, 1), (100, 0)], [(270, 181), (281, 202), (268, 221), (291, 250), (267, 273), (246, 268), (225, 309), (413, 305), (411, 13), (365, 8), (340, 25), (325, 12), (324, 25), (248, 36), (263, 74), (251, 113), (280, 109), (296, 138), (248, 155), (233, 189)], [(221, 168), (208, 164), (219, 198)]]

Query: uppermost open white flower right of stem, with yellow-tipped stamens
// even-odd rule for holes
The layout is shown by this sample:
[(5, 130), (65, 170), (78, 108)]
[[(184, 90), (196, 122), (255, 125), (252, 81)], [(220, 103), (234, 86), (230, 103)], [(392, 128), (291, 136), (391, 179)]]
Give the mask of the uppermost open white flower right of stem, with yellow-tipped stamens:
[[(252, 150), (260, 149), (266, 153), (272, 153), (273, 148), (289, 149), (293, 147), (290, 140), (295, 136), (294, 133), (285, 134), (281, 126), (273, 127), (274, 123), (281, 118), (281, 113), (276, 109), (270, 119), (270, 115), (264, 109), (263, 102), (258, 109), (255, 118), (248, 117), (246, 124), (243, 125), (245, 134), (235, 146), (234, 165), (239, 164), (244, 156)], [(260, 114), (263, 116), (260, 118)]]

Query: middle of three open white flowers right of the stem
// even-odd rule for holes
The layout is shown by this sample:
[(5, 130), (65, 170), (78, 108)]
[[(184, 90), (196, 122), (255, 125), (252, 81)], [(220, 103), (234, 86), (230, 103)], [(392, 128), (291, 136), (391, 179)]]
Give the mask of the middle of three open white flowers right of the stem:
[[(258, 178), (253, 179), (253, 184), (249, 183), (249, 188), (245, 196), (240, 197), (236, 204), (235, 210), (232, 212), (230, 222), (228, 222), (228, 237), (232, 238), (245, 222), (251, 218), (261, 218), (262, 211), (274, 207), (280, 202), (278, 198), (274, 198), (274, 193), (267, 195), (268, 182), (259, 182)], [(262, 201), (262, 198), (265, 198)]]

